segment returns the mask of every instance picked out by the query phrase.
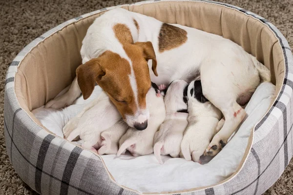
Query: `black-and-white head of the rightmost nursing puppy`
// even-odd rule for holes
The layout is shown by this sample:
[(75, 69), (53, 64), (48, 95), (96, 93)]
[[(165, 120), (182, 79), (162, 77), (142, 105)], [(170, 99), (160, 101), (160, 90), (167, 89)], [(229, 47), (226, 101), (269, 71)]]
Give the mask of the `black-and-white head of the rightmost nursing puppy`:
[(187, 89), (187, 96), (188, 100), (197, 100), (198, 102), (205, 103), (206, 101), (209, 101), (204, 95), (203, 95), (203, 89), (201, 86), (200, 80), (193, 80), (188, 85)]

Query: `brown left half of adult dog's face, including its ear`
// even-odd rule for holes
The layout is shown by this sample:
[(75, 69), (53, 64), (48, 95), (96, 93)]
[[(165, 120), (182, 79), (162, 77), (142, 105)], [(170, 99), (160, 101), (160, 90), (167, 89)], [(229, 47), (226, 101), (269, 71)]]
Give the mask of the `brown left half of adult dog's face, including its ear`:
[(97, 82), (122, 117), (126, 114), (132, 115), (137, 110), (129, 74), (129, 62), (111, 51), (105, 51), (99, 58), (91, 59), (76, 69), (77, 81), (84, 99), (91, 95)]

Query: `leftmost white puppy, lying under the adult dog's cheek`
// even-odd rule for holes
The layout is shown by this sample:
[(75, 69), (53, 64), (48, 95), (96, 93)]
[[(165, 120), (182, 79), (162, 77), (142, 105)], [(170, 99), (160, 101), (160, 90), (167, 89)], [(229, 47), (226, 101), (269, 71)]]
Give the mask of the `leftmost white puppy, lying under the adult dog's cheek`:
[(117, 108), (103, 92), (86, 105), (79, 115), (69, 120), (63, 128), (63, 134), (68, 141), (79, 136), (84, 140), (82, 147), (97, 152), (102, 142), (100, 134), (121, 118)]

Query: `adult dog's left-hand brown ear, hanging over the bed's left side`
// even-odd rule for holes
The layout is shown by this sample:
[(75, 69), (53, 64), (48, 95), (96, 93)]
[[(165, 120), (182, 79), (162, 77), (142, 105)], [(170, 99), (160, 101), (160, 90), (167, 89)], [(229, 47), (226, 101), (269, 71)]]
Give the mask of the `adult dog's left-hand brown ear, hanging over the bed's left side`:
[(102, 70), (99, 59), (91, 59), (76, 69), (77, 82), (84, 99), (89, 98), (95, 88), (95, 82), (103, 76), (105, 71)]

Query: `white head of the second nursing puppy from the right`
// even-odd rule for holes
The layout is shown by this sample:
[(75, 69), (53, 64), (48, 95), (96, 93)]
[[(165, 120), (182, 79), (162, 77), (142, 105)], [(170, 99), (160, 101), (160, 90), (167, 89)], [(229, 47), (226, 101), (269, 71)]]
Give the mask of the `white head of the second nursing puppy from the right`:
[(167, 87), (164, 98), (166, 112), (180, 112), (187, 109), (186, 95), (184, 93), (188, 83), (184, 80), (173, 80)]

